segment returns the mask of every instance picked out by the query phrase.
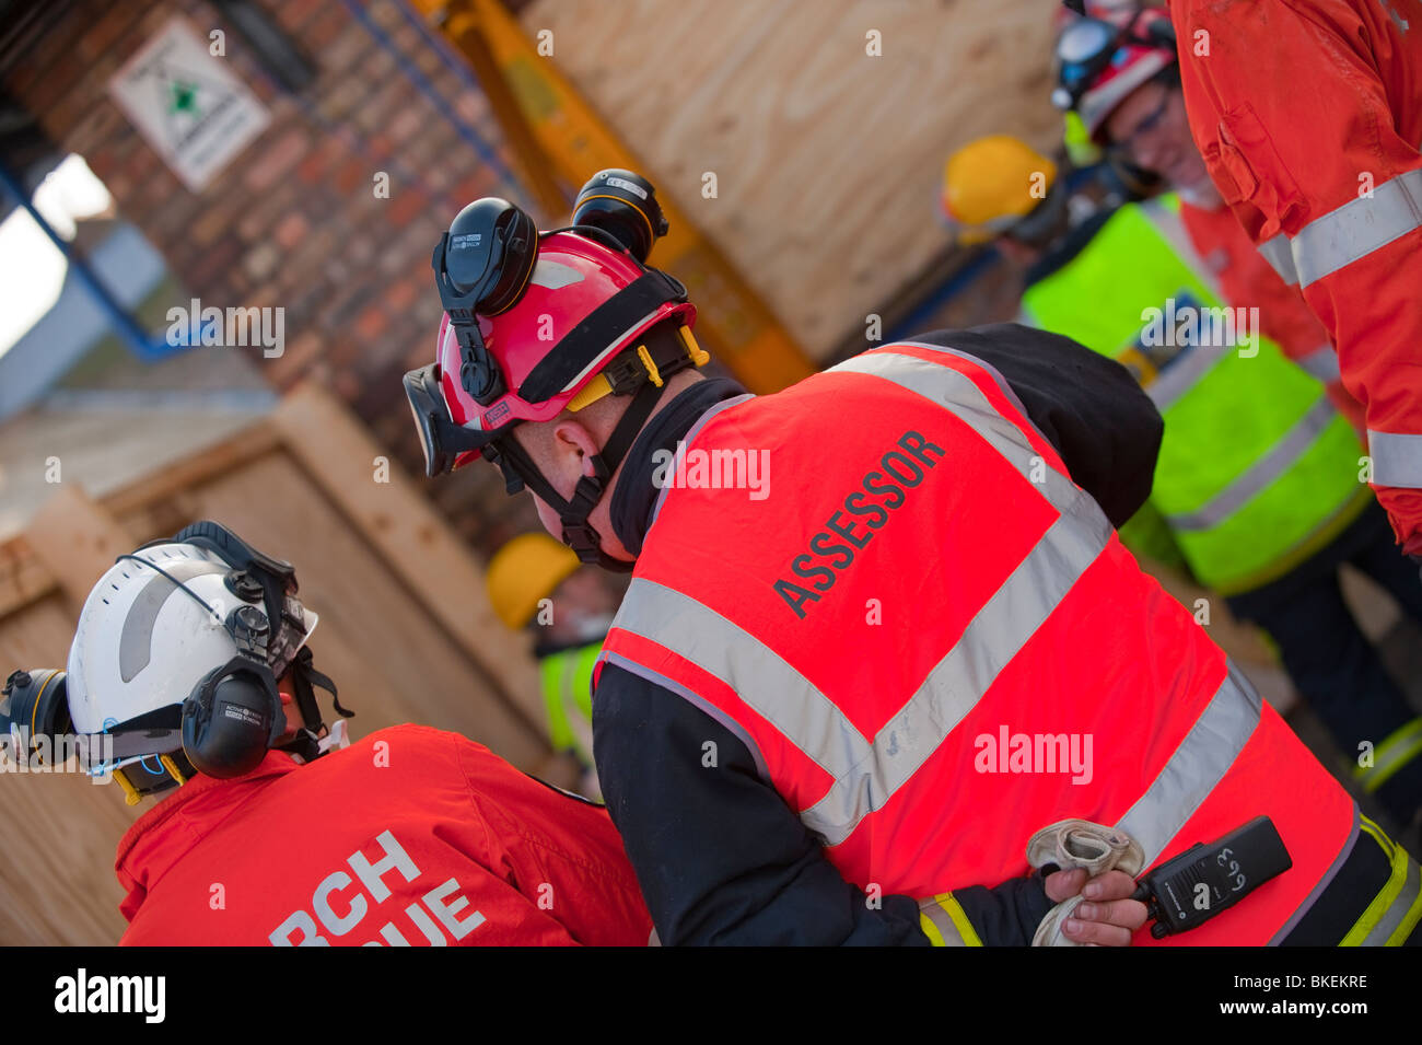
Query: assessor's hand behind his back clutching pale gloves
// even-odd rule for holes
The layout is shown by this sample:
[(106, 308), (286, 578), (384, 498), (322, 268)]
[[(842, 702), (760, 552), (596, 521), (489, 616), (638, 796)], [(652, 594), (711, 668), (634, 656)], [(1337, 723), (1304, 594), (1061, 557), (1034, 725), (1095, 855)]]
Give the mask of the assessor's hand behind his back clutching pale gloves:
[[(1125, 947), (1146, 920), (1146, 906), (1132, 900), (1145, 853), (1130, 835), (1089, 820), (1059, 820), (1027, 843), (1032, 867), (1057, 866), (1047, 896), (1057, 906), (1042, 918), (1032, 947)], [(1079, 923), (1074, 930), (1069, 921)]]

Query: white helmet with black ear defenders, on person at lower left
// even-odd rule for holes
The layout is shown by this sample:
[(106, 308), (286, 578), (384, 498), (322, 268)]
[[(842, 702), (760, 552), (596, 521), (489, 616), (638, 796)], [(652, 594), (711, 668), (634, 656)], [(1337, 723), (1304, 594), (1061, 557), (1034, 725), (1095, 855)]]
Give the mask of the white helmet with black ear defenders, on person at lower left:
[[(111, 768), (131, 802), (192, 772), (240, 776), (276, 746), (323, 754), (331, 745), (313, 684), (336, 687), (311, 667), (317, 617), (296, 591), (290, 563), (213, 522), (119, 556), (84, 603), (67, 680), (48, 687), (67, 688), (67, 731), (114, 738)], [(280, 744), (276, 680), (289, 670), (301, 728)], [(37, 718), (27, 708), (38, 697), (16, 688), (7, 718)], [(338, 700), (336, 709), (350, 715)]]

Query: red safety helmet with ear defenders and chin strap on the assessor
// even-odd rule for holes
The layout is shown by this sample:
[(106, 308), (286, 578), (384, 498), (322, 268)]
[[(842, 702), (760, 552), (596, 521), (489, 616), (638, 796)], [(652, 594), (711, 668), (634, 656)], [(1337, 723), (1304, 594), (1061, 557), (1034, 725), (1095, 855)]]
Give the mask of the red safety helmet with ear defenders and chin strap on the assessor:
[[(559, 510), (563, 540), (610, 569), (623, 564), (602, 556), (587, 513), (665, 378), (710, 358), (691, 336), (695, 307), (685, 287), (644, 264), (665, 230), (654, 189), (630, 171), (594, 175), (573, 225), (546, 233), (508, 200), (475, 200), (435, 249), (445, 304), (435, 363), (405, 374), (429, 476), (479, 455), (493, 461), (510, 493), (532, 488)], [(637, 344), (665, 321), (677, 324), (677, 338)], [(596, 455), (597, 475), (565, 500), (506, 436), (525, 421), (550, 421), (609, 394), (631, 395), (633, 404)]]

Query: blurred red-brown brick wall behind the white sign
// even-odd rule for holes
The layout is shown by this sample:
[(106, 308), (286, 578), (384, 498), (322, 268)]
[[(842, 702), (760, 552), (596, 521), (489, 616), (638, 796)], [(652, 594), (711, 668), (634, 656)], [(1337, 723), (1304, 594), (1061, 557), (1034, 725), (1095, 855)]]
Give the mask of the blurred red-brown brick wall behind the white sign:
[[(385, 43), (340, 0), (262, 0), (317, 68), (299, 95), (202, 0), (80, 0), (4, 87), (54, 142), (87, 159), (191, 296), (205, 306), (286, 309), (283, 355), (253, 351), (273, 387), (311, 377), (336, 390), (418, 475), (400, 375), (432, 360), (439, 301), (429, 254), (465, 202), (495, 193), (528, 200), (505, 176), (510, 156), (483, 97), (441, 63), (392, 0), (358, 1)], [(225, 31), (225, 61), (272, 115), (199, 195), (107, 92), (112, 74), (173, 14), (202, 37)], [(395, 53), (428, 78), (437, 100)], [(481, 159), (441, 104), (495, 146), (498, 164)], [(374, 192), (381, 171), (388, 199)], [(506, 499), (493, 469), (465, 469), (427, 489), (485, 553), (536, 526), (528, 499)]]

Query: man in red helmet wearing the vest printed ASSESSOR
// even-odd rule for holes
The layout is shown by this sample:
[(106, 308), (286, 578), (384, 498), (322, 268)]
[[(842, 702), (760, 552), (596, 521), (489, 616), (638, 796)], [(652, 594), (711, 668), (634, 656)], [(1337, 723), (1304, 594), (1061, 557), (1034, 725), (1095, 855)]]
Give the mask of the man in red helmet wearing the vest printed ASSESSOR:
[[(1416, 864), (1116, 539), (1160, 436), (1125, 368), (1001, 326), (748, 395), (695, 373), (685, 289), (644, 263), (651, 186), (592, 186), (572, 230), (459, 213), (405, 388), (431, 475), (491, 458), (633, 573), (594, 758), (664, 943), (1025, 944), (1064, 891), (1028, 874), (1041, 830), (1149, 869), (1257, 816), (1291, 867), (1170, 940), (1413, 933)], [(1066, 938), (1148, 943), (1099, 879)]]

